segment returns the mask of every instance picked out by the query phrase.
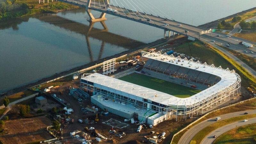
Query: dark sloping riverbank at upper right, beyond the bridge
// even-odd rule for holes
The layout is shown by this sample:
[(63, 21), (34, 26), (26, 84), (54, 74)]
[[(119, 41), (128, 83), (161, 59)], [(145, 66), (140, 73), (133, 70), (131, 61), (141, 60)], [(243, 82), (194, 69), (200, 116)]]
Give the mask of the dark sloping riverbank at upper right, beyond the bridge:
[[(245, 10), (245, 11), (242, 11), (242, 12), (238, 12), (238, 13), (235, 13), (235, 14), (232, 14), (230, 16), (227, 16), (225, 18), (221, 18), (219, 20), (214, 20), (212, 22), (208, 22), (206, 24), (203, 24), (203, 25), (200, 25), (198, 27), (201, 27), (201, 28), (206, 28), (206, 29), (209, 29), (209, 28), (216, 28), (218, 26), (218, 24), (222, 21), (222, 20), (232, 20), (233, 17), (237, 17), (237, 16), (243, 16), (245, 13), (247, 12), (251, 12), (251, 11), (255, 11), (256, 10), (256, 7), (254, 8), (251, 8), (251, 9), (248, 9), (248, 10)], [(246, 18), (245, 18), (246, 19)]]

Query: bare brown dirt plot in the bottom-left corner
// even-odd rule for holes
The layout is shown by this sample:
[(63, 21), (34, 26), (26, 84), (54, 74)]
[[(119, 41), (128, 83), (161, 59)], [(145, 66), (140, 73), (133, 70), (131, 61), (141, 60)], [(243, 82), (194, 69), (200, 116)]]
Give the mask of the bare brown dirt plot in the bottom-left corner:
[(1, 136), (0, 140), (4, 144), (25, 144), (52, 139), (46, 131), (49, 125), (51, 121), (45, 116), (5, 121), (6, 134)]

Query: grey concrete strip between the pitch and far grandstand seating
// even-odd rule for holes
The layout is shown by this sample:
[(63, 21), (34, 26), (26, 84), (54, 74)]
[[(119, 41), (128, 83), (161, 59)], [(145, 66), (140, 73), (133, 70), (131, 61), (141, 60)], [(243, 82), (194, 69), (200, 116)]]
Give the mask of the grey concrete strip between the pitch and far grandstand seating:
[[(142, 70), (144, 72), (146, 72), (145, 75), (147, 75), (147, 76), (159, 78), (161, 80), (168, 81), (168, 82), (171, 82), (171, 83), (180, 84), (180, 85), (184, 85), (184, 86), (187, 86), (187, 87), (191, 86), (189, 84), (196, 85), (197, 86), (196, 89), (198, 89), (198, 90), (205, 90), (205, 89), (209, 88), (208, 86), (206, 86), (204, 84), (198, 84), (198, 83), (195, 83), (195, 82), (188, 82), (187, 80), (177, 78), (177, 77), (173, 77), (173, 76), (167, 76), (163, 73), (155, 72), (155, 71), (152, 71), (152, 70), (149, 70), (149, 69), (143, 68)], [(150, 74), (150, 75), (148, 75), (147, 73)], [(186, 84), (187, 82), (189, 84)], [(181, 83), (183, 83), (183, 84), (181, 84)]]

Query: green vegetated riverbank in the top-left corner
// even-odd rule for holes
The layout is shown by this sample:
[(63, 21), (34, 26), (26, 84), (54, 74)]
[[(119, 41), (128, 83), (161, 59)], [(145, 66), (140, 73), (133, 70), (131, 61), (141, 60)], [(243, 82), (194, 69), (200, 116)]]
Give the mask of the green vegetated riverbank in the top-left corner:
[(41, 4), (38, 0), (12, 0), (8, 2), (0, 0), (0, 2), (2, 2), (0, 5), (0, 21), (37, 13), (58, 13), (79, 8), (76, 5), (58, 1), (52, 2), (51, 0), (49, 3), (46, 0), (46, 3), (42, 1)]

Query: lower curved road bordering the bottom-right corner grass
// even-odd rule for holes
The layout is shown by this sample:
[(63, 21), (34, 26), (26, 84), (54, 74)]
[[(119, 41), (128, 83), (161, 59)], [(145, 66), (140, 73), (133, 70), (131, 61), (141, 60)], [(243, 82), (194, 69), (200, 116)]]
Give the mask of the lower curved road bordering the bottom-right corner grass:
[(248, 119), (248, 122), (238, 121), (238, 122), (235, 122), (232, 124), (227, 124), (225, 126), (222, 126), (218, 129), (216, 129), (215, 131), (211, 132), (210, 134), (208, 134), (204, 138), (204, 140), (202, 140), (201, 144), (212, 143), (216, 139), (216, 138), (213, 138), (214, 135), (219, 137), (221, 134), (223, 134), (229, 130), (232, 130), (236, 127), (247, 125), (247, 124), (253, 124), (253, 123), (256, 123), (256, 117)]

